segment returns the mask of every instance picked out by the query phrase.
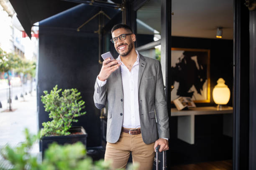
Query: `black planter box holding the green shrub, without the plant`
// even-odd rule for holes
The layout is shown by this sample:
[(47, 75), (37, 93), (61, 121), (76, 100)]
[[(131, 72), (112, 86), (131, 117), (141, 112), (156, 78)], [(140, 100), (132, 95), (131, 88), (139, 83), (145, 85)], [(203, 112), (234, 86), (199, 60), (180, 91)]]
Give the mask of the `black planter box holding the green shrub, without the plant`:
[(64, 145), (66, 143), (73, 144), (78, 141), (82, 142), (84, 147), (86, 148), (86, 138), (87, 133), (85, 132), (82, 126), (74, 126), (69, 129), (70, 133), (77, 133), (82, 132), (82, 135), (65, 135), (65, 136), (46, 136), (42, 137), (41, 142), (41, 151), (42, 151), (42, 158), (44, 158), (44, 151), (49, 147), (49, 145), (53, 142), (58, 143), (59, 145)]

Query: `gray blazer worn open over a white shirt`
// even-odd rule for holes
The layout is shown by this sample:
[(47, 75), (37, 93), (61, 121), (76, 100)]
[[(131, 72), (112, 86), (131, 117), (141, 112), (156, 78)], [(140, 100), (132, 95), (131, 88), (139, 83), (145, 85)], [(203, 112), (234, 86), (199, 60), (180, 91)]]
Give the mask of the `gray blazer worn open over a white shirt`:
[[(161, 64), (158, 60), (139, 54), (138, 101), (141, 135), (144, 143), (169, 138), (169, 118), (165, 100)], [(123, 84), (121, 68), (113, 72), (107, 83), (95, 83), (95, 106), (102, 109), (108, 103), (107, 141), (116, 143), (123, 124)], [(157, 122), (156, 122), (157, 121)]]

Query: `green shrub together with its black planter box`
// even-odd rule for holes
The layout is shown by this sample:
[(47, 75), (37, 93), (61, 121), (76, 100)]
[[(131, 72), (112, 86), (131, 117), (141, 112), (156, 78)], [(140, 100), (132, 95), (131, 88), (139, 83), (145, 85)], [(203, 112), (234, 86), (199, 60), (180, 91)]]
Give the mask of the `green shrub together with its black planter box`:
[[(41, 101), (44, 103), (45, 111), (49, 112), (51, 121), (43, 122), (41, 130), (41, 151), (48, 145), (56, 142), (60, 145), (65, 143), (76, 143), (80, 141), (86, 147), (87, 133), (83, 127), (72, 127), (72, 122), (77, 122), (76, 117), (84, 115), (84, 101), (81, 100), (77, 89), (58, 89), (56, 85), (50, 93), (44, 91)], [(60, 95), (61, 93), (61, 95)]]

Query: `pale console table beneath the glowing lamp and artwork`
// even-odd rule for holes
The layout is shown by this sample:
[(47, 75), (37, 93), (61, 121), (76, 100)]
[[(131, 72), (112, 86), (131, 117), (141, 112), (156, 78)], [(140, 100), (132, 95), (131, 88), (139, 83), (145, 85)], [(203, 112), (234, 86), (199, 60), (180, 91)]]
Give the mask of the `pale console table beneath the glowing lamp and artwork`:
[(171, 116), (178, 116), (178, 138), (189, 144), (195, 143), (195, 115), (223, 114), (223, 134), (233, 135), (233, 107), (217, 110), (216, 107), (195, 107), (189, 110), (172, 108)]

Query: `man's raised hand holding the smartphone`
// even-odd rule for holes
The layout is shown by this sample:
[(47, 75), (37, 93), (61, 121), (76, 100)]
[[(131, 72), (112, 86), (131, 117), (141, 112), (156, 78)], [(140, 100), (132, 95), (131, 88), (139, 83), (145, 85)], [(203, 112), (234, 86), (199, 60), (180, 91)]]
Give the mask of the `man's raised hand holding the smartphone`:
[(119, 68), (119, 66), (121, 65), (121, 62), (118, 64), (119, 60), (115, 60), (115, 61), (111, 61), (111, 62), (109, 62), (109, 61), (110, 61), (110, 58), (108, 58), (102, 62), (100, 74), (98, 75), (98, 79), (100, 81), (107, 80), (108, 77), (110, 76), (110, 74), (112, 72), (114, 72), (115, 70), (117, 70)]

